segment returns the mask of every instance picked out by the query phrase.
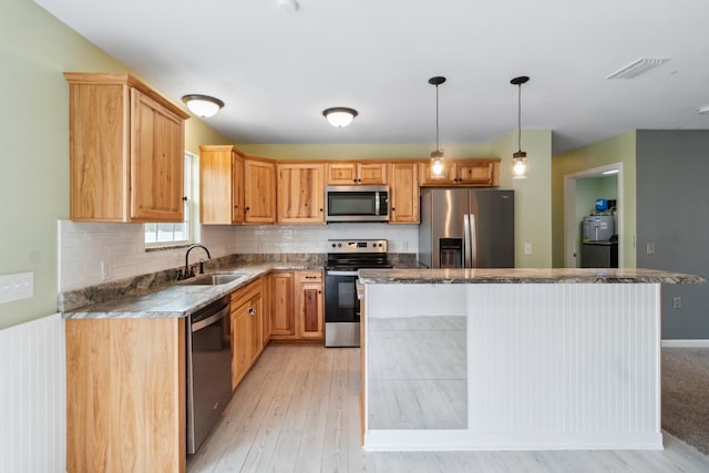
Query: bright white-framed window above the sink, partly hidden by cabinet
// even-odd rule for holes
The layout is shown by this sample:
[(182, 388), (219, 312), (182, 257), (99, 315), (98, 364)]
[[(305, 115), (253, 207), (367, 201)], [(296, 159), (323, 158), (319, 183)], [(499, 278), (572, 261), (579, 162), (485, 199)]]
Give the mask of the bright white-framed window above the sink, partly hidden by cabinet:
[(145, 224), (145, 247), (160, 248), (169, 246), (182, 246), (193, 243), (192, 213), (194, 193), (193, 166), (197, 162), (197, 156), (185, 152), (185, 199), (184, 199), (184, 222), (178, 224)]

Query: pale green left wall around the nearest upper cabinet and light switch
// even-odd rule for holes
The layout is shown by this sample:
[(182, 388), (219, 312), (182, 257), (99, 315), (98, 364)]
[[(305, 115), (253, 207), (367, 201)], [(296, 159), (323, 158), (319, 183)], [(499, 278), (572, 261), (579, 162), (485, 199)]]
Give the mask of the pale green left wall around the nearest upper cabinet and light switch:
[[(64, 71), (126, 68), (30, 0), (0, 14), (0, 275), (33, 271), (34, 297), (0, 305), (0, 329), (56, 311), (56, 222), (69, 218), (69, 88)], [(175, 97), (172, 97), (175, 101)], [(177, 97), (178, 100), (178, 97)], [(186, 146), (228, 143), (198, 119)]]

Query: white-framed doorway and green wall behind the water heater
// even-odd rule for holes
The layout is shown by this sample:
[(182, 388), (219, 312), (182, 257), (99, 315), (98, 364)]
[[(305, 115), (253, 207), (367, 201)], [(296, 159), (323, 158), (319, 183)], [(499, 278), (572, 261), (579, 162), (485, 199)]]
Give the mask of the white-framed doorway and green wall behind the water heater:
[[(564, 267), (579, 268), (582, 220), (593, 210), (595, 199), (589, 195), (597, 189), (605, 195), (596, 197), (616, 200), (615, 234), (618, 235), (618, 267), (623, 267), (623, 163), (614, 163), (564, 176)], [(615, 195), (614, 195), (615, 191)]]

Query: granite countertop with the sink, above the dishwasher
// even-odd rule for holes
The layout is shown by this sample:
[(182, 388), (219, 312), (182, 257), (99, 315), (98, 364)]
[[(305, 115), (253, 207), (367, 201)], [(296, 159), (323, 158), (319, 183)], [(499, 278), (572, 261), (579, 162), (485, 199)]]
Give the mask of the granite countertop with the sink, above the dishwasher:
[(187, 317), (195, 310), (232, 294), (234, 290), (258, 279), (268, 271), (278, 269), (300, 270), (321, 269), (321, 267), (284, 263), (266, 263), (232, 268), (222, 267), (218, 270), (207, 271), (206, 275), (239, 273), (244, 274), (244, 277), (215, 286), (195, 286), (189, 284), (191, 279), (186, 279), (179, 282), (164, 285), (163, 287), (145, 291), (144, 294), (119, 297), (111, 301), (62, 311), (62, 317), (65, 319)]

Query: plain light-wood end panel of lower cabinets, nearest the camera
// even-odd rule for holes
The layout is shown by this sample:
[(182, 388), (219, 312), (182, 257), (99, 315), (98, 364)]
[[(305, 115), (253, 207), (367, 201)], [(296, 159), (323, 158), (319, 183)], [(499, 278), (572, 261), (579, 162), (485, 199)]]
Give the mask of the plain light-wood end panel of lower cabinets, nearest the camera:
[(66, 471), (186, 470), (186, 320), (66, 320)]

